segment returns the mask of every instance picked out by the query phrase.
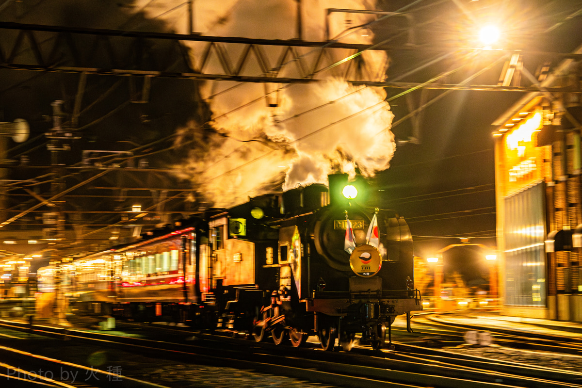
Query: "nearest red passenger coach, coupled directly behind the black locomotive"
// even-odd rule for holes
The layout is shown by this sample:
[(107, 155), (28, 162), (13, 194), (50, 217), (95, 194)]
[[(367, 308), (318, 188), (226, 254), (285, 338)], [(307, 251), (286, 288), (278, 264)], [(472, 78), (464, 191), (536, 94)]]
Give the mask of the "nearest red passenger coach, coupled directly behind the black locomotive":
[(196, 268), (208, 265), (208, 224), (184, 220), (146, 237), (109, 254), (116, 275), (113, 314), (186, 321), (191, 305), (201, 300)]

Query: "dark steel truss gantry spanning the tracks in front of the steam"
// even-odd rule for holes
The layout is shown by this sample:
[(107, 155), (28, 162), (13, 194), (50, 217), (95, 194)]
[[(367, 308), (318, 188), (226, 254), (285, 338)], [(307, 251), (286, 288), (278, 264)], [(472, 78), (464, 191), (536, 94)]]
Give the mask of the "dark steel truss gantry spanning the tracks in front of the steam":
[(507, 85), (379, 81), (382, 77), (378, 74), (385, 72), (387, 63), (382, 65), (383, 69), (361, 70), (359, 57), (366, 51), (446, 50), (414, 44), (392, 47), (8, 22), (0, 23), (0, 35), (0, 69), (135, 76), (143, 79), (141, 84), (146, 94), (151, 77), (289, 84), (319, 81), (332, 70), (350, 83), (374, 87), (535, 90), (535, 87)]

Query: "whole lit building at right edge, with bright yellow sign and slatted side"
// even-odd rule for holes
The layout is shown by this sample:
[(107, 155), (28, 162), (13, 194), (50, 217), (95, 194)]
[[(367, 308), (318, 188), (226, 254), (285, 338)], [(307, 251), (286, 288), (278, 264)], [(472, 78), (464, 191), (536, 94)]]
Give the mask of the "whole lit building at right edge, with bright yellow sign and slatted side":
[(494, 123), (502, 314), (582, 322), (578, 48)]

